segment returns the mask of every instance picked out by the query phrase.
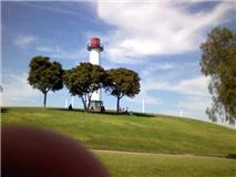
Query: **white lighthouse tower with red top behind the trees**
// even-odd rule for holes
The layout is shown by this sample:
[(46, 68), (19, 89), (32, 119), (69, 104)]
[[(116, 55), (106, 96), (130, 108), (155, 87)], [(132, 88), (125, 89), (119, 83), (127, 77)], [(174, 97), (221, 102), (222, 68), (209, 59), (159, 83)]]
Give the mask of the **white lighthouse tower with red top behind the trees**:
[[(88, 44), (88, 50), (90, 51), (90, 63), (101, 65), (101, 52), (103, 51), (103, 45), (100, 43), (99, 38), (92, 38)], [(102, 92), (101, 90), (95, 91), (91, 97), (91, 107), (100, 108), (103, 106)]]

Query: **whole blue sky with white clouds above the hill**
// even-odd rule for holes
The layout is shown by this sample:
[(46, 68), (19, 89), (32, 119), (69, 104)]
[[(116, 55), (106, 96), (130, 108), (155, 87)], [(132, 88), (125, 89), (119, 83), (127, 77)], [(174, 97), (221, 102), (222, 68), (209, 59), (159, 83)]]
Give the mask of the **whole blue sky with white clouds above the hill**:
[[(59, 61), (64, 69), (89, 61), (86, 43), (100, 37), (102, 66), (138, 72), (141, 93), (124, 97), (123, 107), (206, 119), (211, 105), (201, 74), (199, 44), (214, 27), (236, 30), (233, 1), (71, 1), (1, 2), (3, 105), (42, 106), (43, 96), (27, 83), (35, 55)], [(63, 107), (66, 88), (49, 93), (48, 106)], [(103, 93), (107, 108), (115, 98)], [(79, 97), (74, 105), (82, 107)]]

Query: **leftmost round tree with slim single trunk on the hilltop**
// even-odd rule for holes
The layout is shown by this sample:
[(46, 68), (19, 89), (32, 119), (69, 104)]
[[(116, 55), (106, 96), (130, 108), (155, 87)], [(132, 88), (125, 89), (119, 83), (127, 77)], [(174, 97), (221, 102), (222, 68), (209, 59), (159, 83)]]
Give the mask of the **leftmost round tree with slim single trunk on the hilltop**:
[(49, 91), (55, 92), (63, 87), (63, 70), (60, 63), (50, 62), (48, 56), (35, 56), (30, 62), (28, 82), (33, 88), (40, 90), (43, 95), (43, 106), (47, 105), (47, 94)]

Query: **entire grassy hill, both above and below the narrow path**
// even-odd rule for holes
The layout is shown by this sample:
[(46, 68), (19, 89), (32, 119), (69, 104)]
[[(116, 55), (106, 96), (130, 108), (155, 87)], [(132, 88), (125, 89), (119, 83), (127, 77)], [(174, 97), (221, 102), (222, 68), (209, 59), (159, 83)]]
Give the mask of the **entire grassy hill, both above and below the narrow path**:
[(235, 159), (217, 158), (236, 156), (236, 131), (209, 123), (39, 107), (6, 107), (1, 122), (50, 128), (79, 139), (88, 148), (114, 150), (95, 154), (115, 177), (236, 176)]

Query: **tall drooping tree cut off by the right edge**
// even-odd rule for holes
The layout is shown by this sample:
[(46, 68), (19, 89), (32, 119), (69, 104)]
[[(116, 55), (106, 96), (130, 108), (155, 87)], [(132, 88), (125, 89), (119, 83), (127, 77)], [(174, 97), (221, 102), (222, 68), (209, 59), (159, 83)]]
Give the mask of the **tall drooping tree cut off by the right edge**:
[(227, 28), (215, 28), (202, 43), (202, 72), (209, 76), (213, 105), (209, 118), (236, 118), (236, 33)]

